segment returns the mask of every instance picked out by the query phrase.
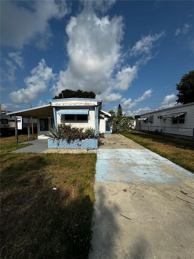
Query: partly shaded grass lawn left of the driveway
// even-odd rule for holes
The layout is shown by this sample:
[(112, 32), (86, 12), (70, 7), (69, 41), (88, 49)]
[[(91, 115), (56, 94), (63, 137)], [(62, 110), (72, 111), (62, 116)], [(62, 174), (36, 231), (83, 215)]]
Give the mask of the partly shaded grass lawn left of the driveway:
[(1, 258), (87, 258), (96, 154), (8, 153), (14, 141), (1, 139)]

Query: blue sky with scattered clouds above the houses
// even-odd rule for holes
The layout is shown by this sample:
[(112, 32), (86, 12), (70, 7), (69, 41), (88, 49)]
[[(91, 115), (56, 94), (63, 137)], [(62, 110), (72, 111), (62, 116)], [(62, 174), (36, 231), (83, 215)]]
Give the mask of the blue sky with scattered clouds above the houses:
[(126, 115), (175, 105), (193, 70), (194, 1), (1, 1), (1, 105), (98, 93)]

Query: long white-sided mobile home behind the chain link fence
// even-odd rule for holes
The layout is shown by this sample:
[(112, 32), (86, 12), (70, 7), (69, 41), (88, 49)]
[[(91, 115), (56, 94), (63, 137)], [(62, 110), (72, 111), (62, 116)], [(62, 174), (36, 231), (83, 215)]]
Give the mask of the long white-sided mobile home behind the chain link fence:
[(141, 114), (140, 130), (191, 139), (194, 131), (194, 103)]

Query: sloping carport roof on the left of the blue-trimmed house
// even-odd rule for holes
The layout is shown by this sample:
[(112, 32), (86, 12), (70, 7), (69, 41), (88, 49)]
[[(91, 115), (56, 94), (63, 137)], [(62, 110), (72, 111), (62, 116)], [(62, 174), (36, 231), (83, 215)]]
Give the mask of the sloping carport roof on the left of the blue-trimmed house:
[(7, 115), (12, 115), (12, 114), (17, 114), (18, 116), (33, 116), (33, 117), (38, 117), (38, 116), (52, 116), (53, 115), (53, 107), (51, 104), (47, 104), (44, 106), (40, 107), (35, 107), (31, 109), (26, 109), (26, 110), (21, 110), (21, 111), (14, 111), (14, 112), (9, 112)]

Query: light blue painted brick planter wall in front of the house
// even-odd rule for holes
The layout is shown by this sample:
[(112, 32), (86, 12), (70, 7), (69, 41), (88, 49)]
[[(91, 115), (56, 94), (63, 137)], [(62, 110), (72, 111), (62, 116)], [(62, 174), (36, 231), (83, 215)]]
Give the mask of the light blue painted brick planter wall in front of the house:
[(98, 148), (97, 139), (75, 139), (74, 141), (60, 140), (59, 145), (57, 145), (57, 140), (48, 139), (48, 148), (85, 148), (85, 149), (95, 149)]

